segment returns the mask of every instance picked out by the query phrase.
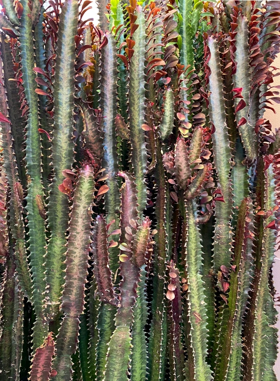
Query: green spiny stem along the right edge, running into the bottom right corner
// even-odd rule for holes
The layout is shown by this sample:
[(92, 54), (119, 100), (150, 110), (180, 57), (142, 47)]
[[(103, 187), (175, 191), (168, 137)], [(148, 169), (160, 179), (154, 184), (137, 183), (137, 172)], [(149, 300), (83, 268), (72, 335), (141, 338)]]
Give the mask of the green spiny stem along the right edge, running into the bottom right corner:
[[(265, 168), (265, 210), (274, 208), (274, 177), (272, 164), (265, 163), (268, 168)], [(255, 316), (254, 316), (254, 335), (252, 342), (252, 380), (260, 381), (267, 377), (273, 379), (275, 377), (273, 364), (276, 360), (277, 350), (270, 345), (270, 342), (276, 338), (276, 328), (271, 326), (274, 320), (274, 311), (270, 305), (273, 303), (273, 298), (269, 289), (269, 272), (272, 267), (274, 258), (275, 236), (272, 225), (275, 220), (274, 213), (270, 215), (264, 223), (264, 236), (262, 242), (262, 257), (261, 257), (261, 274), (258, 286), (258, 294), (256, 296)]]

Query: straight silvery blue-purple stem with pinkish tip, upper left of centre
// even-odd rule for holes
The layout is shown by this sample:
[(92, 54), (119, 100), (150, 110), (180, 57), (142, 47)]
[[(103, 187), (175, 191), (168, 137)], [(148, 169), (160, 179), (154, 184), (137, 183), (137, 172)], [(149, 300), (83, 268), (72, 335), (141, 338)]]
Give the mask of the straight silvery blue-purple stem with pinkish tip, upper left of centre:
[[(109, 233), (119, 228), (120, 219), (120, 193), (116, 173), (118, 172), (118, 155), (116, 152), (115, 118), (117, 109), (117, 62), (116, 42), (110, 33), (106, 33), (103, 39), (107, 44), (101, 50), (101, 82), (100, 82), (100, 108), (102, 110), (102, 130), (104, 133), (104, 155), (102, 166), (106, 168), (108, 179), (106, 184), (109, 189), (105, 194), (106, 221), (112, 223)], [(112, 239), (116, 237), (112, 235)], [(117, 247), (109, 248), (110, 267), (113, 273), (119, 267), (119, 250)]]

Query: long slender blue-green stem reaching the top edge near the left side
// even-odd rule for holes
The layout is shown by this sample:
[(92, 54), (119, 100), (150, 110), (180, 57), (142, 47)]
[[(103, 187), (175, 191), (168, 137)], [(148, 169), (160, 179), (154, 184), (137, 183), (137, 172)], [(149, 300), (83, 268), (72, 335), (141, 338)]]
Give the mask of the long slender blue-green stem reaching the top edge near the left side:
[(26, 124), (26, 168), (28, 188), (26, 197), (26, 210), (28, 220), (28, 250), (30, 252), (30, 269), (32, 272), (32, 301), (37, 320), (33, 327), (33, 348), (40, 346), (47, 334), (47, 323), (44, 313), (45, 283), (45, 223), (36, 203), (36, 196), (43, 199), (43, 185), (41, 182), (41, 141), (38, 115), (38, 94), (34, 72), (35, 57), (33, 44), (33, 25), (30, 15), (30, 1), (20, 3), (22, 15), (20, 17), (20, 65), (22, 80), (27, 103)]

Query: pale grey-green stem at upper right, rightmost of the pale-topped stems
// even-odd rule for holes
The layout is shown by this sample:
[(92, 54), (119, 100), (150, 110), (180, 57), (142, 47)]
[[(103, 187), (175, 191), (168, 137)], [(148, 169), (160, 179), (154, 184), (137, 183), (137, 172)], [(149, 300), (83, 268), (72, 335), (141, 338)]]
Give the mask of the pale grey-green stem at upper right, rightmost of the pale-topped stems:
[[(237, 122), (239, 123), (241, 118), (245, 118), (246, 123), (239, 126), (241, 139), (246, 152), (247, 162), (250, 164), (254, 161), (257, 155), (257, 145), (256, 145), (256, 134), (254, 132), (254, 123), (256, 120), (251, 120), (250, 115), (250, 90), (251, 90), (251, 80), (250, 80), (250, 57), (249, 57), (249, 32), (248, 32), (248, 20), (243, 15), (239, 15), (237, 18), (238, 27), (236, 28), (236, 51), (235, 61), (236, 61), (236, 73), (232, 76), (234, 81), (234, 88), (242, 88), (243, 100), (246, 106), (240, 111), (236, 112)], [(236, 106), (238, 105), (240, 99), (235, 99)]]

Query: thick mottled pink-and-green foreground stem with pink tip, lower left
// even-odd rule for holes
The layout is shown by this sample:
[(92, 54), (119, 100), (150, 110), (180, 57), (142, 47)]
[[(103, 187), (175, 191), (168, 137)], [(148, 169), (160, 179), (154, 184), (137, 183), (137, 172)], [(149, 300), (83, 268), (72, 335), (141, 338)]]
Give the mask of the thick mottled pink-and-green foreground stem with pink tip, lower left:
[(79, 316), (84, 309), (94, 192), (94, 170), (90, 164), (84, 163), (74, 190), (69, 223), (65, 284), (61, 297), (64, 318), (56, 340), (56, 358), (53, 365), (53, 369), (57, 372), (55, 381), (70, 381), (72, 377), (71, 356), (76, 350)]

